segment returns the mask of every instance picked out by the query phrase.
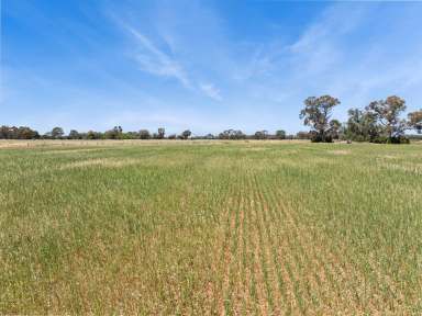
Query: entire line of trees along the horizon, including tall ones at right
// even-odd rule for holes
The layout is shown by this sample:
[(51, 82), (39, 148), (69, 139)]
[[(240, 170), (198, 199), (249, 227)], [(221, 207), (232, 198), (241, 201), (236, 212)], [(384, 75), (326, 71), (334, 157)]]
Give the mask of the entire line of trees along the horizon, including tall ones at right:
[[(334, 139), (370, 142), (370, 143), (409, 143), (407, 131), (422, 134), (422, 109), (408, 113), (406, 101), (397, 95), (386, 100), (370, 102), (364, 109), (348, 110), (345, 123), (332, 119), (333, 109), (341, 102), (331, 95), (309, 97), (304, 100), (304, 108), (299, 117), (310, 131), (296, 135), (279, 129), (274, 134), (268, 131), (257, 131), (247, 135), (240, 129), (226, 129), (218, 135), (195, 135), (189, 129), (180, 134), (166, 135), (164, 127), (151, 133), (148, 129), (123, 132), (121, 126), (114, 126), (106, 132), (89, 131), (80, 133), (71, 129), (67, 135), (62, 127), (54, 127), (51, 132), (40, 134), (27, 126), (0, 126), (0, 139), (310, 139), (319, 143), (331, 143)], [(415, 137), (415, 136), (413, 136)]]

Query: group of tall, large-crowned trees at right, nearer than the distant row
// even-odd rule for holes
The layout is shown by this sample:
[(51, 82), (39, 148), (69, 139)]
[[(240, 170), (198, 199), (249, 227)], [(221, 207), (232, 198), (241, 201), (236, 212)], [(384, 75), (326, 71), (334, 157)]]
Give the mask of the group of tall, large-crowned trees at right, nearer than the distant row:
[(397, 95), (370, 102), (364, 109), (348, 110), (347, 122), (341, 124), (332, 120), (334, 106), (341, 102), (331, 95), (310, 97), (304, 100), (304, 109), (299, 117), (311, 127), (312, 142), (331, 143), (333, 139), (356, 142), (402, 144), (409, 143), (407, 131), (422, 133), (422, 110), (408, 113), (406, 101)]

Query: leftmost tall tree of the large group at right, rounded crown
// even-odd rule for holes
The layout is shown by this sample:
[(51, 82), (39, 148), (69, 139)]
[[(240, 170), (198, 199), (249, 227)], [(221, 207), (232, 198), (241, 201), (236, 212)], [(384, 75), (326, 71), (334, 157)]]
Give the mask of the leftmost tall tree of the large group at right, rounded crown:
[(304, 100), (304, 109), (299, 117), (311, 127), (312, 142), (332, 142), (330, 119), (332, 110), (340, 104), (338, 99), (331, 95), (309, 97)]

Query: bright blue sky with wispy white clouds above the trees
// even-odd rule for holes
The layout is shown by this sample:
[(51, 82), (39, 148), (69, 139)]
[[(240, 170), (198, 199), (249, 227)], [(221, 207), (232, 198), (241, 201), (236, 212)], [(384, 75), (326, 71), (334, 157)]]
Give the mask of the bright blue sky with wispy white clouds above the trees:
[(303, 100), (422, 108), (422, 1), (0, 0), (0, 124), (307, 131)]

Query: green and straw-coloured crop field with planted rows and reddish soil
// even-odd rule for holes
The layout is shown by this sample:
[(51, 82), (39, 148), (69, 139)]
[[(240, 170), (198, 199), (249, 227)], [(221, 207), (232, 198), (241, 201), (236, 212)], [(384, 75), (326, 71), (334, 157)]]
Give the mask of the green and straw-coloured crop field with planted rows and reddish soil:
[(0, 314), (422, 313), (422, 145), (171, 144), (0, 149)]

